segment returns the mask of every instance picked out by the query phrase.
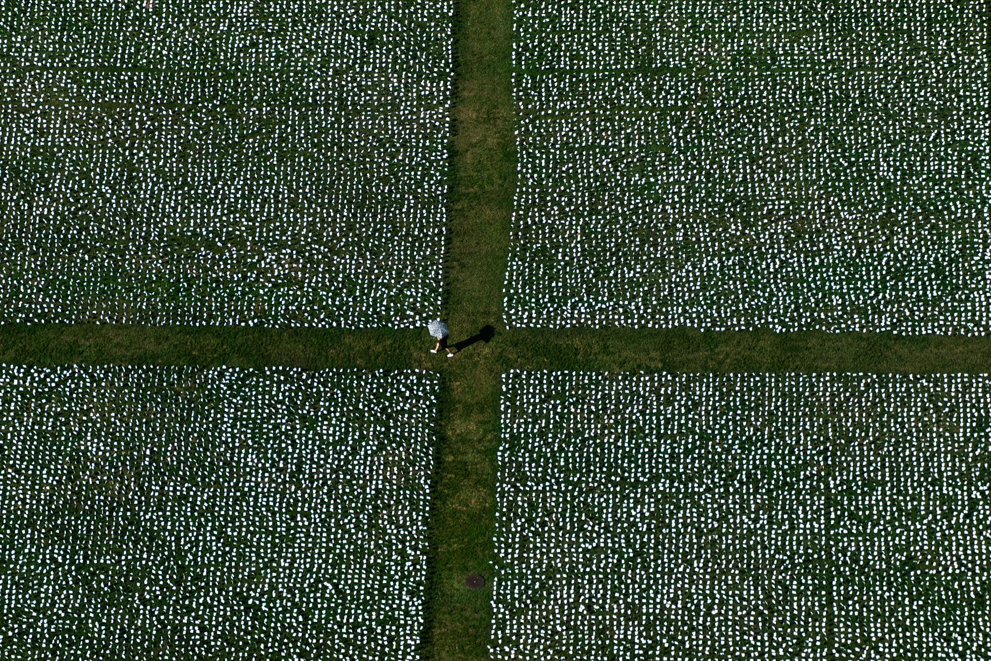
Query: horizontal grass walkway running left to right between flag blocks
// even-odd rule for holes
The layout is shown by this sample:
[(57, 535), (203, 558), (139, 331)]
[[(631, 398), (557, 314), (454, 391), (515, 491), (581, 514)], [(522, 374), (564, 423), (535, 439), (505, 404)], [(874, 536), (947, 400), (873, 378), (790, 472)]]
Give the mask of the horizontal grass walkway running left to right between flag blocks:
[[(483, 314), (452, 315), (454, 343), (473, 332), (461, 324)], [(461, 321), (459, 321), (461, 320)], [(488, 323), (491, 321), (486, 318)], [(476, 321), (475, 331), (480, 322)], [(571, 329), (505, 331), (447, 360), (428, 352), (426, 331), (190, 329), (134, 326), (0, 326), (0, 362), (38, 365), (119, 363), (289, 365), (320, 369), (436, 370), (465, 375), (486, 369), (664, 371), (991, 372), (991, 336), (826, 332), (773, 333)], [(472, 371), (473, 376), (481, 372)], [(455, 379), (456, 380), (456, 379)], [(459, 396), (463, 391), (459, 391)]]

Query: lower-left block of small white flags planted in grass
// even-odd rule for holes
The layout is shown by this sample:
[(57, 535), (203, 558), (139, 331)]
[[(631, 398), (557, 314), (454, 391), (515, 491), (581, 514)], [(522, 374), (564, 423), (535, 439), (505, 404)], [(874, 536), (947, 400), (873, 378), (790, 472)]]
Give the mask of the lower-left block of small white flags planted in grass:
[(0, 656), (418, 658), (437, 388), (0, 367)]

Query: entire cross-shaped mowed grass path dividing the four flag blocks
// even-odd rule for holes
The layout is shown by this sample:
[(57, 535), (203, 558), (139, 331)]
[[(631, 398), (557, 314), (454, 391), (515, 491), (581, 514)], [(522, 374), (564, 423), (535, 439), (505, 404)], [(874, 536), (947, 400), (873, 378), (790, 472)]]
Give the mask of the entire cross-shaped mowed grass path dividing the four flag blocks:
[(453, 359), (426, 331), (0, 326), (8, 363), (128, 363), (306, 368), (418, 367), (442, 374), (424, 658), (483, 659), (490, 639), (499, 374), (518, 369), (986, 372), (991, 337), (905, 337), (634, 329), (506, 331), (502, 281), (515, 188), (509, 0), (460, 0), (444, 316)]

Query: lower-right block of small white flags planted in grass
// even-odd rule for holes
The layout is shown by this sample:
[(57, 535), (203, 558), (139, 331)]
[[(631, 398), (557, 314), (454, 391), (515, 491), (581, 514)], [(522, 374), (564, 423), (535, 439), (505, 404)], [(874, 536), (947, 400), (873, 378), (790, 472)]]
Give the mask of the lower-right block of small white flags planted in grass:
[(986, 376), (502, 377), (495, 659), (977, 659)]

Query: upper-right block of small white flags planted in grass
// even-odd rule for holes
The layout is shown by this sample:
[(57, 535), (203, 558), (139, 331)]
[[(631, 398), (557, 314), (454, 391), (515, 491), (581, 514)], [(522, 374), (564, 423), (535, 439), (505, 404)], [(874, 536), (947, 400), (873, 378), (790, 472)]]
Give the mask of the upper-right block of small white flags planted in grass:
[(983, 0), (515, 0), (514, 327), (991, 331)]

